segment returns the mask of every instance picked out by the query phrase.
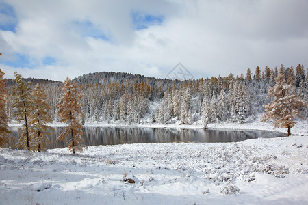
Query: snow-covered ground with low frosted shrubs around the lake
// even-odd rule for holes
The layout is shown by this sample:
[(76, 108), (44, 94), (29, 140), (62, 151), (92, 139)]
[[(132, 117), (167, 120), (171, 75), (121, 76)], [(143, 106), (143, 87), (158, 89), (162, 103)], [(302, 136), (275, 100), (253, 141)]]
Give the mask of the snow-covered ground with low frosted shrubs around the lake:
[(0, 204), (308, 204), (307, 122), (296, 126), (304, 136), (91, 146), (75, 155), (0, 148)]

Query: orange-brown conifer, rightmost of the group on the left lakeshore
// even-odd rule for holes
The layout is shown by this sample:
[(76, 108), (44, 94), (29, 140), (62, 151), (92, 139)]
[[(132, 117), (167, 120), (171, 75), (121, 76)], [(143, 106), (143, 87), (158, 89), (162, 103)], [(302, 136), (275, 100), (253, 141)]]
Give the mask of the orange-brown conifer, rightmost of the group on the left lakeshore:
[(75, 154), (76, 152), (82, 152), (83, 145), (81, 145), (81, 135), (83, 133), (81, 123), (79, 122), (81, 113), (81, 94), (77, 91), (76, 84), (70, 81), (67, 77), (64, 81), (64, 86), (62, 88), (62, 97), (57, 104), (59, 108), (58, 115), (60, 117), (60, 122), (68, 124), (60, 133), (58, 140), (65, 139), (66, 136), (70, 135), (70, 140), (68, 141), (68, 149)]

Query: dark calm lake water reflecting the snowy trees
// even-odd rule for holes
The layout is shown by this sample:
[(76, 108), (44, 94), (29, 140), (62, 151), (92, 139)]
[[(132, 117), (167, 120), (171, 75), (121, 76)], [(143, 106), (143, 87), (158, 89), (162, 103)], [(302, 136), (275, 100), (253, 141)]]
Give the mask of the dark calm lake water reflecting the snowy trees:
[[(64, 148), (66, 143), (55, 141), (63, 128), (57, 127), (51, 133), (49, 148)], [(20, 128), (11, 127), (13, 137), (18, 140)], [(177, 129), (177, 128), (110, 128), (85, 127), (84, 144), (87, 146), (116, 145), (123, 143), (166, 143), (166, 142), (232, 142), (254, 139), (259, 137), (281, 137), (284, 133), (271, 131), (229, 131), (203, 129)], [(14, 146), (10, 141), (9, 146)]]

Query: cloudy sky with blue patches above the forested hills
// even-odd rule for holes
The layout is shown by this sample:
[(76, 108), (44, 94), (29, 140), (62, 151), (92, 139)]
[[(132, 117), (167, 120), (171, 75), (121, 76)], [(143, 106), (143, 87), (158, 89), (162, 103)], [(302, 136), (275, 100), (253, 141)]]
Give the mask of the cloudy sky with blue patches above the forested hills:
[(307, 69), (307, 10), (307, 0), (0, 0), (0, 68), (57, 81), (103, 71), (173, 78), (179, 65), (194, 79)]

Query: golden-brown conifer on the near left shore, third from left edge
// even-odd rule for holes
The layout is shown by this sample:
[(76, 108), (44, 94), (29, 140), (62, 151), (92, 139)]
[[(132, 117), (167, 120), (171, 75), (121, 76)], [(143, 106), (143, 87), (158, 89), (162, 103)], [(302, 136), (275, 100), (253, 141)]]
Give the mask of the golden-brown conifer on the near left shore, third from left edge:
[[(36, 85), (31, 95), (33, 110), (29, 115), (29, 135), (31, 139), (31, 150), (44, 150), (46, 143), (50, 143), (48, 135), (52, 130), (47, 123), (52, 122), (49, 110), (51, 107), (47, 104), (47, 94), (42, 90), (40, 85)], [(49, 130), (49, 131), (48, 131)]]

